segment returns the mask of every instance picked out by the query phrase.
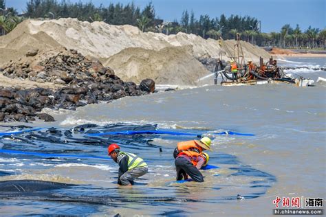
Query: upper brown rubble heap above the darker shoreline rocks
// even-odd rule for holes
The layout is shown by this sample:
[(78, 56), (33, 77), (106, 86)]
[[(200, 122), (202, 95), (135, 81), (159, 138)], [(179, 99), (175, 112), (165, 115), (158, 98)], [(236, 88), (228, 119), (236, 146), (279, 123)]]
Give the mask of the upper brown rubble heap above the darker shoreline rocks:
[(105, 82), (114, 71), (103, 67), (99, 60), (89, 60), (76, 50), (62, 51), (32, 65), (30, 61), (10, 62), (2, 69), (9, 78), (28, 78), (32, 81), (70, 84), (80, 80)]

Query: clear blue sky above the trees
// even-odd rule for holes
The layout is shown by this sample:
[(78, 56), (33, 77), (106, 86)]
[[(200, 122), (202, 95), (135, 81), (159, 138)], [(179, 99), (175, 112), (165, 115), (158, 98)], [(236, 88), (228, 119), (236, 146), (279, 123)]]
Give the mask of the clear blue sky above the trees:
[[(6, 0), (7, 7), (22, 12), (29, 0)], [(57, 0), (61, 1), (61, 0)], [(71, 3), (90, 0), (66, 0)], [(132, 0), (91, 0), (95, 5), (109, 3), (130, 3)], [(208, 14), (210, 18), (221, 14), (230, 16), (252, 16), (261, 21), (261, 32), (279, 32), (285, 24), (306, 30), (309, 25), (323, 30), (326, 23), (326, 0), (151, 0), (155, 14), (164, 21), (180, 21), (182, 11), (193, 10), (196, 18)], [(133, 0), (135, 5), (144, 8), (149, 0)]]

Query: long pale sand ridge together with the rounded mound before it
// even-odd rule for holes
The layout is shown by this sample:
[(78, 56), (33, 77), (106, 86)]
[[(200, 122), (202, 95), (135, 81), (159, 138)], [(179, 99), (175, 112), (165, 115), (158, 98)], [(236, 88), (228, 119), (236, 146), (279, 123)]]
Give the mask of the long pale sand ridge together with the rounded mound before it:
[[(193, 57), (218, 58), (221, 53), (224, 60), (229, 60), (225, 47), (233, 51), (234, 44), (233, 40), (225, 41), (225, 46), (220, 47), (219, 41), (205, 40), (194, 34), (180, 32), (166, 36), (153, 32), (141, 32), (138, 27), (131, 25), (89, 23), (77, 19), (28, 20), (20, 23), (10, 34), (0, 37), (0, 66), (8, 60), (16, 60), (23, 56), (31, 47), (43, 51), (62, 46), (67, 49), (76, 49), (83, 56), (100, 59), (106, 67), (113, 67), (118, 75), (126, 80), (139, 81), (150, 77), (164, 84), (179, 81), (183, 84), (193, 84), (194, 80), (191, 79), (198, 78), (204, 73)], [(270, 57), (268, 52), (259, 47), (246, 42), (242, 42), (242, 45), (246, 60), (258, 62), (259, 56)], [(192, 52), (184, 52), (180, 48), (173, 49), (173, 47), (180, 46), (190, 46)], [(136, 47), (139, 49), (130, 49)], [(116, 54), (118, 56), (113, 57)], [(153, 60), (150, 60), (152, 55)], [(119, 58), (124, 70), (118, 69)], [(178, 79), (171, 80), (172, 74)]]

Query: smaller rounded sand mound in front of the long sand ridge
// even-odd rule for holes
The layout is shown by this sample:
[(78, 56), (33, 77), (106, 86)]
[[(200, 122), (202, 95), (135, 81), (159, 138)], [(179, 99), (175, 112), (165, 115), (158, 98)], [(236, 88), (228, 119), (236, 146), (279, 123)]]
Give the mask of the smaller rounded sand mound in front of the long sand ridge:
[(196, 84), (209, 72), (193, 56), (191, 46), (165, 47), (159, 51), (131, 47), (105, 62), (122, 80), (139, 83), (151, 78), (157, 84)]

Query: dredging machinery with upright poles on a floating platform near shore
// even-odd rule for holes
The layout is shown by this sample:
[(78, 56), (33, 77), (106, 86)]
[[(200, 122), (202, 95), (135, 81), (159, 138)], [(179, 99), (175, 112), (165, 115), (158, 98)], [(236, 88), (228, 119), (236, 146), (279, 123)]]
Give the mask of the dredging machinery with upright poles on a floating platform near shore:
[(267, 62), (259, 58), (259, 65), (252, 60), (245, 62), (240, 36), (237, 34), (234, 54), (224, 44), (220, 38), (219, 45), (224, 47), (227, 56), (231, 59), (230, 64), (224, 65), (221, 54), (215, 66), (214, 84), (217, 84), (218, 77), (221, 76), (222, 86), (240, 86), (268, 83), (287, 83), (295, 84), (298, 87), (313, 86), (314, 80), (306, 79), (301, 76), (294, 78), (284, 73), (283, 68), (277, 65), (277, 60), (271, 57)]

